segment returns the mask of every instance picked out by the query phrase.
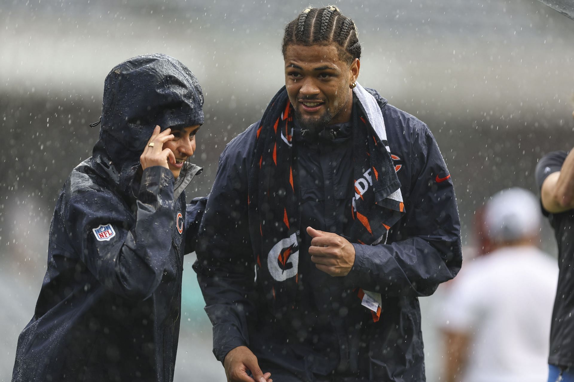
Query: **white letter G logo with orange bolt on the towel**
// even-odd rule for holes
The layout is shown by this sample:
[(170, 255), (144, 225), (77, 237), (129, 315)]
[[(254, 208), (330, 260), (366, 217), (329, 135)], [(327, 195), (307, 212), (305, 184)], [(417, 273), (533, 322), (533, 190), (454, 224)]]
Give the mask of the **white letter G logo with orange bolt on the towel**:
[(267, 256), (269, 273), (277, 281), (285, 281), (297, 275), (299, 265), (299, 246), (297, 233), (273, 245)]

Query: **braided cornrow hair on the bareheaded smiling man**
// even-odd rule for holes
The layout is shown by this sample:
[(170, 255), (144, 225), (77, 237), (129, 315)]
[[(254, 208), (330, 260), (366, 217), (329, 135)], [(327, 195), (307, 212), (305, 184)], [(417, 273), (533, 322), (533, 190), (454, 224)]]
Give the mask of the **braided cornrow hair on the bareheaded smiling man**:
[(306, 8), (285, 27), (281, 52), (289, 44), (330, 45), (336, 44), (339, 58), (351, 64), (360, 59), (361, 46), (355, 23), (341, 13), (338, 7)]

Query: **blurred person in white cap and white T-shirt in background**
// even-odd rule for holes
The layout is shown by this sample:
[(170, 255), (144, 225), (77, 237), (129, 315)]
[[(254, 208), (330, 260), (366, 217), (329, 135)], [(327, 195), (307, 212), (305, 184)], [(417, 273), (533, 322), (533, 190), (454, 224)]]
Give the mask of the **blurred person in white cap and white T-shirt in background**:
[(444, 300), (447, 382), (545, 380), (557, 271), (536, 247), (540, 220), (536, 197), (520, 188), (484, 208), (491, 251), (465, 262)]

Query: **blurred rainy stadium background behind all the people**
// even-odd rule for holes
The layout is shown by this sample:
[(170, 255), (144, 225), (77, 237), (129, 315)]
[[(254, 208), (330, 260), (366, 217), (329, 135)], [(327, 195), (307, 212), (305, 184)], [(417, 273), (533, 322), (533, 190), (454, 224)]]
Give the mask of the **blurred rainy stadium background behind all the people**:
[[(538, 159), (573, 145), (574, 21), (535, 0), (331, 3), (358, 26), (360, 83), (423, 120), (439, 142), (470, 254), (476, 209), (510, 186), (536, 194)], [(193, 162), (204, 171), (187, 190), (207, 194), (223, 147), (284, 83), (282, 32), (308, 5), (0, 0), (0, 381), (10, 380), (18, 334), (33, 314), (59, 190), (98, 138), (88, 124), (99, 118), (108, 71), (161, 52), (195, 73), (206, 119)], [(556, 256), (547, 223), (540, 247)], [(224, 381), (193, 260), (186, 256), (176, 381)], [(440, 295), (421, 299), (430, 382), (443, 364)]]

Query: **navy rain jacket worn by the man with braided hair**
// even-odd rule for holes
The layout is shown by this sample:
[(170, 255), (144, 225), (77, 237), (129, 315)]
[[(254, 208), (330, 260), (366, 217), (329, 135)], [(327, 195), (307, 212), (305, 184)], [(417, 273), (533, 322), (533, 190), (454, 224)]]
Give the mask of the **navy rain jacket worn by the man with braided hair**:
[[(355, 263), (347, 276), (317, 270), (305, 227), (350, 236), (352, 126), (331, 126), (319, 138), (303, 138), (296, 127), (302, 242), (292, 306), (274, 306), (270, 287), (256, 280), (247, 189), (259, 122), (223, 151), (194, 264), (218, 360), (245, 345), (263, 372), (282, 368), (302, 381), (425, 380), (418, 297), (432, 294), (460, 269), (456, 199), (428, 127), (370, 91), (385, 120), (406, 213), (386, 244), (353, 244)], [(382, 294), (378, 322), (361, 305), (359, 288)]]

